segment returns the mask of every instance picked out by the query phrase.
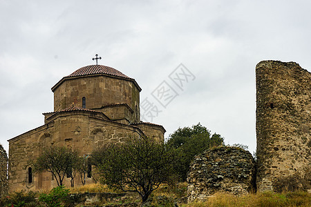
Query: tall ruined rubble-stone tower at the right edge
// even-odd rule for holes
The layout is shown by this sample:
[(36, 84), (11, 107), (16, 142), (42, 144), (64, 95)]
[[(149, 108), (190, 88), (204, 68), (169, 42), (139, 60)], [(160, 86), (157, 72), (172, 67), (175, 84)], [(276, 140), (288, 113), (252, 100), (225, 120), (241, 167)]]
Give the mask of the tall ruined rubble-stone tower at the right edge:
[(257, 188), (311, 190), (311, 73), (294, 62), (256, 66)]

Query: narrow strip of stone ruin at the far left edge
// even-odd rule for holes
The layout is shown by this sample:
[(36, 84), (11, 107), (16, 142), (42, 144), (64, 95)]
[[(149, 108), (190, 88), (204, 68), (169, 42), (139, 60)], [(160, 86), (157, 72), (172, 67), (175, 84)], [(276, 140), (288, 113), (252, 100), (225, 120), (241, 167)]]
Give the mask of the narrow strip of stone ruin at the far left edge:
[(8, 193), (7, 166), (8, 155), (0, 144), (0, 196)]

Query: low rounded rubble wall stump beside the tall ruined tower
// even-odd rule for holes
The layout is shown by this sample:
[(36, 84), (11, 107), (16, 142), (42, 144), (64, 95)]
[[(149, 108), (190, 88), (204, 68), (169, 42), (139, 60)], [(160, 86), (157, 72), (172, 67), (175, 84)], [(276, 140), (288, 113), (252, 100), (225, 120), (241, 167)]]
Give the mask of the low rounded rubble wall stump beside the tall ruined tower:
[(254, 190), (255, 166), (251, 153), (221, 146), (194, 157), (190, 165), (188, 202), (204, 200), (214, 193), (243, 195)]

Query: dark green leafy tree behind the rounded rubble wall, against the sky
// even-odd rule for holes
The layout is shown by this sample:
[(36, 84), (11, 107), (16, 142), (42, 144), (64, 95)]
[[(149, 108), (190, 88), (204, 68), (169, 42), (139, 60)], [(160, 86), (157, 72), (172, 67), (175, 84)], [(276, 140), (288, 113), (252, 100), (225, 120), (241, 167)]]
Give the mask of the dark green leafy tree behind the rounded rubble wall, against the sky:
[(223, 144), (223, 137), (216, 133), (211, 135), (211, 132), (200, 123), (192, 127), (178, 128), (167, 141), (167, 147), (175, 149), (178, 154), (174, 166), (181, 181), (186, 181), (190, 163), (195, 155)]

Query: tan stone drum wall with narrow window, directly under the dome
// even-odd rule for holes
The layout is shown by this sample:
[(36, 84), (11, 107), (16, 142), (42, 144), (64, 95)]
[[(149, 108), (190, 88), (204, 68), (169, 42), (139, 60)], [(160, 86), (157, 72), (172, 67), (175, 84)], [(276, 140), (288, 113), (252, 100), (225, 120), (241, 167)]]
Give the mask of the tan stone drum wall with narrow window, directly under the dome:
[(140, 90), (132, 81), (106, 76), (68, 79), (53, 90), (54, 111), (72, 106), (82, 107), (82, 97), (86, 98), (86, 108), (101, 112), (102, 106), (126, 103), (133, 115), (131, 123), (140, 121)]

